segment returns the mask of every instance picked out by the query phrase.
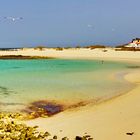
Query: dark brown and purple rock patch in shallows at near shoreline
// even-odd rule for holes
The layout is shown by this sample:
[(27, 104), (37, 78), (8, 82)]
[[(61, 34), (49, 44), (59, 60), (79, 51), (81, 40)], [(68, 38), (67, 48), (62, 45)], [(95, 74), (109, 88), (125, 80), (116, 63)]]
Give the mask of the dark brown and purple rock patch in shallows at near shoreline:
[(51, 117), (64, 110), (82, 107), (88, 103), (82, 101), (75, 104), (60, 104), (55, 101), (40, 100), (30, 103), (22, 112), (27, 114), (27, 119)]

